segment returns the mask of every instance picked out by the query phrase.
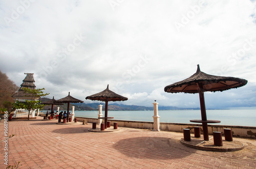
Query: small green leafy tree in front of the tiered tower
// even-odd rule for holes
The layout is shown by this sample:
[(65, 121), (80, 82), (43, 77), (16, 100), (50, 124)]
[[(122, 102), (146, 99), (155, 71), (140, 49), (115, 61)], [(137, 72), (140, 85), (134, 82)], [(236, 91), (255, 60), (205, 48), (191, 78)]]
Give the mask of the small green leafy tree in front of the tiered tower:
[[(13, 104), (15, 108), (27, 109), (30, 114), (30, 111), (32, 110), (44, 107), (44, 105), (40, 104), (41, 101), (37, 99), (39, 99), (41, 96), (49, 95), (49, 93), (44, 94), (44, 92), (42, 91), (42, 90), (45, 90), (45, 88), (42, 88), (42, 89), (23, 88), (22, 90), (27, 94), (25, 95), (26, 97), (30, 97), (30, 100), (25, 100), (25, 102), (16, 100), (16, 102)], [(29, 120), (29, 114), (28, 114), (28, 120)]]

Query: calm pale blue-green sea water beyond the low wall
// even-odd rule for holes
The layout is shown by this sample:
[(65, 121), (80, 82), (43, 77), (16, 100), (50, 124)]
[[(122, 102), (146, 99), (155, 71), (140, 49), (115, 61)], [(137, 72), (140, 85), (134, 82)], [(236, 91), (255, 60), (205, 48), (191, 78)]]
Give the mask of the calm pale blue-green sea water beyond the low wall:
[[(201, 110), (159, 110), (159, 120), (165, 123), (191, 123), (201, 120)], [(75, 111), (75, 117), (98, 118), (98, 111)], [(104, 111), (102, 111), (104, 117)], [(209, 109), (207, 120), (220, 120), (213, 125), (234, 125), (256, 127), (256, 107), (253, 109)], [(154, 111), (108, 111), (113, 120), (153, 122)]]

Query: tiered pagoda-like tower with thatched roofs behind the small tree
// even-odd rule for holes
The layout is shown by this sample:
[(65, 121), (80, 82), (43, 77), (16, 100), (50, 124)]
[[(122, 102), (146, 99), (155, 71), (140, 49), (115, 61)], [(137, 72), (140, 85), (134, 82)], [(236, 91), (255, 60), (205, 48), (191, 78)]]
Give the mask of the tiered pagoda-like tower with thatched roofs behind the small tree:
[[(15, 94), (12, 95), (13, 98), (15, 98), (18, 101), (22, 101), (25, 102), (26, 100), (38, 100), (40, 97), (33, 97), (31, 94), (25, 93), (23, 91), (23, 88), (28, 88), (28, 89), (35, 89), (35, 80), (34, 80), (34, 73), (24, 73), (26, 74), (25, 79), (23, 80), (22, 85), (20, 85), (20, 88), (18, 90), (18, 92), (16, 92)], [(24, 114), (24, 109), (16, 109), (16, 117), (18, 115)], [(14, 112), (15, 114), (15, 112)], [(35, 110), (32, 112), (32, 117), (35, 116)]]

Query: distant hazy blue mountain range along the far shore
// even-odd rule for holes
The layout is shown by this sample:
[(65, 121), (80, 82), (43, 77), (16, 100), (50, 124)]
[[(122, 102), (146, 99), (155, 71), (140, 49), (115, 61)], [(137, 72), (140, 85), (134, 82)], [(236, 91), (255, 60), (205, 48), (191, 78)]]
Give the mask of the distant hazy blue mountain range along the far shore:
[[(46, 102), (51, 99), (48, 98), (40, 98), (41, 102)], [(102, 103), (101, 103), (102, 104)], [(102, 110), (105, 109), (105, 104), (102, 104)], [(53, 105), (53, 110), (57, 110), (57, 107), (60, 107), (60, 110), (67, 109), (67, 103), (63, 105)], [(99, 110), (99, 103), (70, 103), (70, 110), (72, 110), (72, 106), (75, 106), (75, 110)], [(51, 108), (51, 105), (46, 105), (44, 107), (45, 110)], [(108, 105), (109, 110), (154, 110), (154, 107), (146, 107), (146, 106), (138, 106), (138, 105), (125, 105), (125, 104), (118, 104), (112, 103)], [(175, 107), (175, 106), (158, 106), (158, 110), (198, 110), (200, 108), (182, 108), (182, 107)]]

